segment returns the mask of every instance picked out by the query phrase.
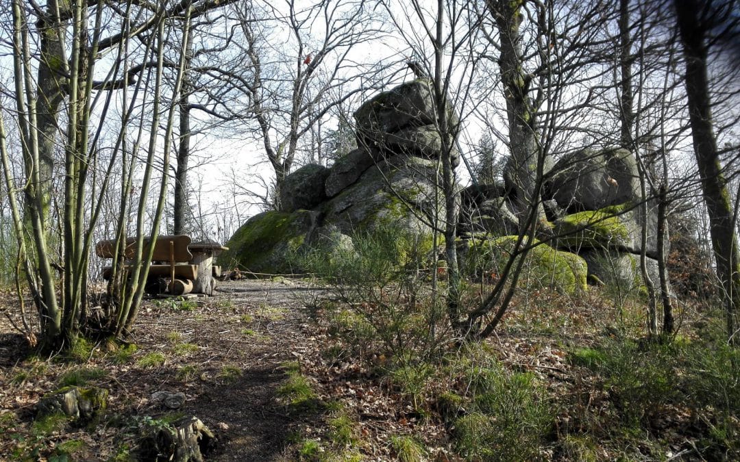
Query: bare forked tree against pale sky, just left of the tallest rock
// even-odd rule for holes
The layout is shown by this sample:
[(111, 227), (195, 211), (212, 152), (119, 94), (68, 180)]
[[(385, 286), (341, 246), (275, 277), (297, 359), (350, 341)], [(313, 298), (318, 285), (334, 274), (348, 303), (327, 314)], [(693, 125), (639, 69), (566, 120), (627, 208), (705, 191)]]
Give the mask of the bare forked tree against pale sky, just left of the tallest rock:
[(232, 85), (246, 104), (230, 110), (262, 145), (279, 201), (304, 135), (334, 106), (374, 86), (371, 69), (354, 53), (383, 30), (364, 0), (240, 4), (234, 13), (243, 64)]

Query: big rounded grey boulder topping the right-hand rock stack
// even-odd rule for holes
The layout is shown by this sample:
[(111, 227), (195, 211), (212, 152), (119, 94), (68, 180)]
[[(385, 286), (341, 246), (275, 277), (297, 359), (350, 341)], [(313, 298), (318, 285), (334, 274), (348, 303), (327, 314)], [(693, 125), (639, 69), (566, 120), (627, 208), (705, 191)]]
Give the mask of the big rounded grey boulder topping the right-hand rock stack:
[(626, 149), (583, 149), (555, 163), (545, 181), (545, 199), (554, 199), (569, 213), (599, 210), (640, 199), (635, 157)]

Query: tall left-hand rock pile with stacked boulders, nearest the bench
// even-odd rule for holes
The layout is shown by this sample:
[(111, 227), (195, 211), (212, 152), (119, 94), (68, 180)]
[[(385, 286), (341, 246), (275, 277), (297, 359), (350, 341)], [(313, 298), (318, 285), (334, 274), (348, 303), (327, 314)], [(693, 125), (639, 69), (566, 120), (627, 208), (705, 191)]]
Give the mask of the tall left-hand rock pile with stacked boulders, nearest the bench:
[[(289, 174), (280, 211), (244, 223), (229, 240), (231, 250), (219, 257), (221, 265), (284, 274), (300, 270), (286, 255), (312, 242), (346, 246), (354, 232), (389, 224), (430, 233), (429, 224), (444, 215), (437, 186), (443, 143), (430, 88), (417, 79), (360, 106), (354, 113), (360, 147), (328, 169), (309, 164)], [(460, 162), (457, 151), (453, 162)]]

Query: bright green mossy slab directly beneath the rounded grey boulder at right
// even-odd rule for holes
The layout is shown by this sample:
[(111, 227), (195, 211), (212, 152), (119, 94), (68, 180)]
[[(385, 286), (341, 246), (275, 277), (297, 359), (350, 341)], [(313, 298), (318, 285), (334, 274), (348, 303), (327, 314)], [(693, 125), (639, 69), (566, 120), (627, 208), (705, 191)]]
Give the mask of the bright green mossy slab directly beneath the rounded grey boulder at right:
[(630, 205), (613, 205), (596, 211), (566, 215), (557, 222), (559, 244), (571, 248), (614, 248), (630, 241), (624, 214)]

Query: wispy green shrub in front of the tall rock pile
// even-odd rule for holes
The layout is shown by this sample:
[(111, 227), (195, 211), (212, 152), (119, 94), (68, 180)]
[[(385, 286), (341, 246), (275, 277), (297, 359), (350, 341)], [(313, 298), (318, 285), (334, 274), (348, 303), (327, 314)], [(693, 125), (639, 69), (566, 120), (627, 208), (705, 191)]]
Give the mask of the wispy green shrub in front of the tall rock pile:
[(329, 282), (340, 302), (333, 333), (349, 344), (380, 342), (401, 361), (437, 354), (446, 330), (443, 297), (433, 296), (426, 281), (437, 261), (431, 239), (388, 225), (358, 232), (352, 242), (330, 255), (314, 248), (295, 256), (297, 266)]

